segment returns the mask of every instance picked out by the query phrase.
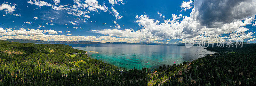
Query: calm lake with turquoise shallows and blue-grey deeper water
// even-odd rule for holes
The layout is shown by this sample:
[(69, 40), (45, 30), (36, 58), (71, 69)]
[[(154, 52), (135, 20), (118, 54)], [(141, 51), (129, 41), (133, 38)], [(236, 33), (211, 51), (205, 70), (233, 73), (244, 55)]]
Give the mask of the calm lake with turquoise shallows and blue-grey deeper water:
[[(163, 64), (180, 64), (215, 52), (203, 48), (175, 45), (67, 44), (88, 52), (91, 58), (118, 67), (158, 68)], [(97, 52), (97, 53), (96, 53)]]

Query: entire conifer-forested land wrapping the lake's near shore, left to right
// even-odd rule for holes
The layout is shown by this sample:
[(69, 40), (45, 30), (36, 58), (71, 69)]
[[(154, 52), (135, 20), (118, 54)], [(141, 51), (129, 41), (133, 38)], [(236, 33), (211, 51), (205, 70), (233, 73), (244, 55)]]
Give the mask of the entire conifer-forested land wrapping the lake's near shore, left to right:
[(219, 53), (158, 68), (131, 69), (92, 59), (62, 44), (0, 40), (0, 85), (255, 86), (256, 44), (206, 48)]

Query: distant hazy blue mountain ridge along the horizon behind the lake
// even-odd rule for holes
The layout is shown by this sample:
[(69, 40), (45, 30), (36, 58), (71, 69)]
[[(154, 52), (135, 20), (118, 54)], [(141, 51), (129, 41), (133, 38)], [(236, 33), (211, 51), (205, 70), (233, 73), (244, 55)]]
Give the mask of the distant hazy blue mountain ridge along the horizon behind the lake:
[(127, 43), (127, 42), (92, 42), (92, 41), (43, 41), (43, 40), (31, 40), (31, 39), (6, 39), (5, 41), (9, 42), (18, 42), (18, 43), (68, 43), (68, 44), (146, 44), (146, 45), (177, 45), (177, 44), (165, 44), (165, 43)]

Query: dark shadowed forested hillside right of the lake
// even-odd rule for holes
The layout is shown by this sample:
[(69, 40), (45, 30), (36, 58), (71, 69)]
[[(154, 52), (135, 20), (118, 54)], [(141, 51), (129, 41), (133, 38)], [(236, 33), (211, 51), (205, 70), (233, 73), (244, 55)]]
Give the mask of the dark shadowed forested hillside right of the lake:
[[(244, 44), (242, 48), (208, 47), (219, 53), (191, 61), (181, 73), (171, 76), (163, 86), (255, 86), (256, 44)], [(181, 74), (181, 75), (180, 75)], [(162, 81), (161, 81), (162, 82)]]

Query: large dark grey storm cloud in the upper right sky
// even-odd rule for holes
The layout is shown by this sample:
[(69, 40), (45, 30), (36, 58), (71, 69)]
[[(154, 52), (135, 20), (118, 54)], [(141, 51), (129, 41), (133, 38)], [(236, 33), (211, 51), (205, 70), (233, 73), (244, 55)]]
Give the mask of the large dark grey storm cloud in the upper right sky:
[(256, 0), (196, 0), (196, 20), (206, 27), (223, 24), (256, 15)]

